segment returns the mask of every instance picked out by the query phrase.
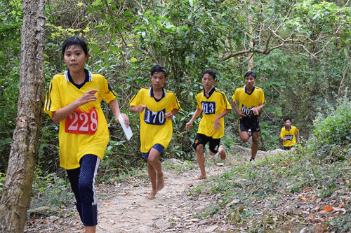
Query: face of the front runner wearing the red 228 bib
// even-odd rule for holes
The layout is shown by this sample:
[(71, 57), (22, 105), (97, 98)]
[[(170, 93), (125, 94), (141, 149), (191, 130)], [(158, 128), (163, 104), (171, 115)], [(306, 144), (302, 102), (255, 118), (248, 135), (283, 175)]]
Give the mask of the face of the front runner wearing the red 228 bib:
[(72, 72), (83, 71), (88, 57), (79, 45), (71, 45), (63, 55), (69, 71)]

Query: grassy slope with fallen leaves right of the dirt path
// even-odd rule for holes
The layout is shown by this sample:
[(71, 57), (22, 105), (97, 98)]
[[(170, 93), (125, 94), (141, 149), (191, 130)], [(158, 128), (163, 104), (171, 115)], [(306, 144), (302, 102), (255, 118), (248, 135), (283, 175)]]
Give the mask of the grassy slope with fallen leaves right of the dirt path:
[[(264, 202), (265, 208), (274, 209), (286, 196), (290, 197), (291, 193), (299, 195), (305, 187), (312, 188), (319, 198), (330, 197), (334, 192), (350, 192), (350, 185), (340, 185), (348, 183), (350, 179), (350, 168), (347, 165), (351, 160), (350, 147), (342, 149), (345, 160), (332, 163), (317, 160), (314, 151), (314, 148), (298, 148), (294, 153), (277, 154), (257, 160), (255, 164), (232, 167), (220, 176), (209, 178), (201, 190), (192, 189), (192, 195), (211, 190), (213, 195), (220, 197), (213, 204), (214, 212), (210, 211), (211, 213), (228, 211), (225, 206), (235, 199), (245, 211), (232, 224), (249, 224), (249, 232), (259, 232), (269, 216), (256, 209), (253, 203)], [(230, 209), (235, 208), (236, 205), (230, 206)], [(227, 216), (231, 216), (230, 213)], [(251, 219), (255, 221), (248, 223)], [(344, 216), (340, 221), (345, 223), (348, 219), (350, 218)], [(338, 224), (338, 220), (333, 222), (333, 225)]]

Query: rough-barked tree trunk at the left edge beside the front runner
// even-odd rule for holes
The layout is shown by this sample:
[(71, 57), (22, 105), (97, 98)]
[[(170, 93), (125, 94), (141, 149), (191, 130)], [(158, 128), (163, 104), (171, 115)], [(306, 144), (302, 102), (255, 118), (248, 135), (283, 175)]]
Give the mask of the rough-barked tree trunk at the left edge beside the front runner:
[(0, 232), (23, 232), (44, 105), (44, 0), (23, 0), (17, 125), (0, 199)]

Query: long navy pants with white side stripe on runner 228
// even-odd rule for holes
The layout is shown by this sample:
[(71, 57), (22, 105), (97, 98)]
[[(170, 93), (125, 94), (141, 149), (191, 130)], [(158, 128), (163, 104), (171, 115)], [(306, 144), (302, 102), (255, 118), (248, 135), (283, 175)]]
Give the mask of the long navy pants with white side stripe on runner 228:
[(67, 175), (71, 188), (76, 197), (76, 206), (81, 222), (86, 227), (98, 225), (98, 207), (95, 192), (95, 177), (98, 174), (100, 157), (84, 155), (77, 169), (69, 169)]

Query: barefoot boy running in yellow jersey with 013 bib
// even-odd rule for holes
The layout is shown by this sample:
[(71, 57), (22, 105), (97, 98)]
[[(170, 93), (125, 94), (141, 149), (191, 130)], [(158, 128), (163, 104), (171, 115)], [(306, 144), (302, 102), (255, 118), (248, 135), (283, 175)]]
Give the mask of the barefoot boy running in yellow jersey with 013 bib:
[(202, 113), (199, 129), (192, 147), (197, 150), (197, 163), (200, 167), (200, 176), (195, 180), (205, 179), (205, 157), (204, 147), (209, 142), (210, 157), (220, 155), (222, 160), (225, 160), (227, 153), (224, 146), (220, 146), (220, 139), (224, 136), (224, 117), (232, 107), (227, 100), (224, 92), (220, 92), (213, 84), (216, 82), (216, 73), (211, 70), (206, 70), (202, 73), (201, 78), (204, 85), (204, 91), (197, 94), (197, 110), (190, 122), (187, 122), (185, 129), (189, 131), (194, 120)]

